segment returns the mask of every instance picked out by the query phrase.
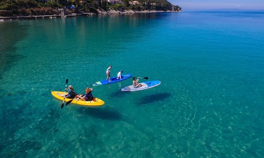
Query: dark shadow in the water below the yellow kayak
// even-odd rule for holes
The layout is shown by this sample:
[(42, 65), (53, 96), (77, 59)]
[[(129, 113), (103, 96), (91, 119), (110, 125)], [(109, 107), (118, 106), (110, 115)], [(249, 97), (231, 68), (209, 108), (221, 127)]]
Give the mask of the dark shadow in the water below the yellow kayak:
[(117, 111), (110, 111), (109, 109), (102, 109), (102, 108), (80, 108), (81, 113), (86, 113), (93, 118), (98, 119), (109, 119), (109, 120), (120, 120), (122, 119), (121, 114)]

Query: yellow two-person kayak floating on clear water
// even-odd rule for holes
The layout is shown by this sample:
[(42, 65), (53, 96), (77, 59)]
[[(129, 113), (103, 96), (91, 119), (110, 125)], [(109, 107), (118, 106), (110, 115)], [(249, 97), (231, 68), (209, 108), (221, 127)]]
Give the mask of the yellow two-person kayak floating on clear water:
[[(58, 94), (64, 95), (64, 92), (52, 91), (51, 94), (53, 97), (60, 99), (60, 100), (63, 100), (63, 97), (59, 96)], [(66, 92), (65, 94), (67, 95), (68, 93)], [(65, 102), (67, 102), (69, 100), (71, 100), (71, 99), (66, 98)], [(77, 104), (77, 105), (83, 105), (83, 106), (92, 106), (92, 107), (98, 107), (98, 106), (102, 106), (105, 104), (105, 102), (99, 98), (94, 98), (91, 101), (85, 101), (84, 99), (72, 99), (71, 103)]]

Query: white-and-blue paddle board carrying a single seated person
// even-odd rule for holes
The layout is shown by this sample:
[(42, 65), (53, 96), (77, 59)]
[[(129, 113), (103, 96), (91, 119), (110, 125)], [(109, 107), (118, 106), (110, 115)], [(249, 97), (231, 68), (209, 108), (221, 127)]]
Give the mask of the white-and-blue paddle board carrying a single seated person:
[(141, 91), (144, 89), (149, 89), (149, 88), (153, 88), (155, 86), (158, 86), (158, 85), (160, 85), (160, 83), (161, 82), (159, 80), (142, 82), (142, 83), (140, 83), (140, 84), (142, 84), (141, 87), (134, 88), (133, 85), (130, 85), (130, 86), (123, 87), (121, 89), (121, 91), (124, 91), (124, 92)]

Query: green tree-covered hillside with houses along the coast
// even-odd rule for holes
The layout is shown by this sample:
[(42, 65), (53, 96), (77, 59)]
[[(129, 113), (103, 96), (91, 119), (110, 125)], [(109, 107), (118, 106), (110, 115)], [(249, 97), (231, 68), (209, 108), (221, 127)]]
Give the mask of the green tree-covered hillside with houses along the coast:
[(181, 11), (167, 0), (1, 0), (0, 16), (59, 15), (59, 8), (63, 8), (65, 14), (97, 14), (108, 10)]

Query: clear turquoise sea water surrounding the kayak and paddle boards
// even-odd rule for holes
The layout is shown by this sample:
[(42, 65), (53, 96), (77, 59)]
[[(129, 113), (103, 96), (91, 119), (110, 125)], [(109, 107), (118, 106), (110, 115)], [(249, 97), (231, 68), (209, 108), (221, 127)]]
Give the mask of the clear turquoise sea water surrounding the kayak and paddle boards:
[[(105, 105), (64, 106), (93, 87)], [(140, 79), (144, 81), (144, 79)], [(0, 157), (264, 157), (264, 13), (181, 12), (0, 22)]]

